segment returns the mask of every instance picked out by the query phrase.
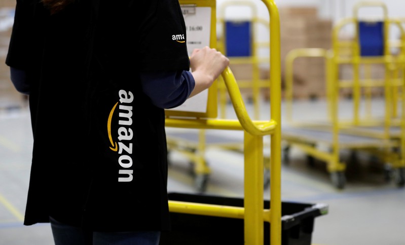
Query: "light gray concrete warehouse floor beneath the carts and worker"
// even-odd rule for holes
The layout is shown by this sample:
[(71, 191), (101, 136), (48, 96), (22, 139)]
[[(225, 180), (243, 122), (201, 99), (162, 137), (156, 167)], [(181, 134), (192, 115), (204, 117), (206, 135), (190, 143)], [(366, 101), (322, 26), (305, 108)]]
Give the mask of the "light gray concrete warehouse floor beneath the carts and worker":
[[(323, 101), (302, 102), (296, 106), (299, 116), (304, 119), (326, 117)], [(247, 104), (247, 108), (252, 111), (251, 105)], [(285, 110), (284, 105), (282, 108)], [(229, 118), (234, 118), (232, 108), (228, 107), (228, 110)], [(269, 112), (264, 103), (261, 119), (268, 119)], [(170, 135), (183, 129), (167, 130)], [(193, 132), (194, 129), (189, 130)], [(243, 140), (243, 132), (214, 131), (217, 136)], [(26, 108), (0, 111), (0, 244), (53, 244), (48, 224), (22, 225), (29, 181), (31, 135)], [(266, 149), (264, 152), (267, 154)], [(343, 158), (345, 154), (342, 152)], [(169, 157), (169, 192), (196, 193), (194, 179), (189, 173), (189, 160), (178, 152), (171, 152)], [(205, 158), (211, 169), (206, 194), (243, 197), (243, 154), (208, 147)], [(329, 213), (315, 218), (313, 244), (405, 244), (405, 190), (384, 181), (383, 164), (371, 165), (366, 156), (360, 155), (358, 159), (356, 164), (348, 165), (345, 189), (338, 190), (330, 182), (323, 162), (315, 161), (309, 166), (303, 152), (291, 149), (289, 164), (282, 164), (282, 200), (328, 204)], [(268, 199), (269, 196), (270, 189), (267, 188), (264, 197)]]

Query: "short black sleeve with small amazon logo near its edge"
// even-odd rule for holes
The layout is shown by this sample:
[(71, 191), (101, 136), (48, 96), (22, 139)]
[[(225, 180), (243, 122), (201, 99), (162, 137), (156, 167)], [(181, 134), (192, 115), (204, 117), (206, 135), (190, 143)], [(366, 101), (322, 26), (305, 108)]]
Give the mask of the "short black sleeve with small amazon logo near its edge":
[(186, 26), (177, 0), (158, 0), (138, 32), (140, 72), (189, 70)]

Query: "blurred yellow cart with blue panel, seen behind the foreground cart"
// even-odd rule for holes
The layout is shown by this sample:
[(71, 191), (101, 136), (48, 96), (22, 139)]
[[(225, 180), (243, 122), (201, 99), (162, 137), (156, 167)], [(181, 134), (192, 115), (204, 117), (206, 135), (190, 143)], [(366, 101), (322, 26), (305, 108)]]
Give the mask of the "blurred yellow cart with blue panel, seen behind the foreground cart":
[[(195, 2), (195, 1), (194, 1)], [(192, 1), (190, 2), (192, 3)], [(242, 6), (247, 7), (252, 12), (252, 19), (249, 20), (249, 23), (252, 23), (251, 28), (248, 28), (247, 32), (251, 33), (252, 36), (256, 29), (258, 28), (256, 25), (260, 24), (264, 26), (269, 31), (270, 36), (270, 24), (269, 21), (265, 21), (262, 18), (257, 17), (257, 3), (263, 4), (262, 2), (254, 2), (254, 1), (228, 1), (222, 4), (219, 9), (221, 13), (220, 16), (225, 15), (225, 10), (230, 6)], [(193, 5), (193, 4), (189, 4)], [(200, 5), (201, 6), (201, 5)], [(213, 18), (213, 17), (212, 17)], [(187, 21), (187, 19), (186, 19)], [(212, 20), (212, 23), (217, 23), (220, 25), (226, 25), (224, 18), (220, 17), (218, 21)], [(245, 23), (245, 22), (244, 22)], [(254, 23), (254, 24), (253, 24)], [(250, 26), (250, 25), (249, 25)], [(225, 28), (225, 27), (224, 27)], [(231, 28), (231, 27), (230, 27)], [(226, 29), (226, 28), (225, 28)], [(244, 30), (246, 31), (246, 30)], [(270, 67), (270, 54), (269, 57), (260, 58), (259, 57), (259, 49), (265, 48), (270, 52), (270, 42), (263, 42), (259, 43), (256, 41), (252, 41), (253, 38), (251, 36), (247, 37), (249, 39), (249, 47), (247, 48), (251, 52), (251, 56), (247, 57), (230, 57), (231, 64), (236, 63), (249, 63), (252, 64), (252, 81), (237, 81), (238, 86), (241, 88), (250, 87), (253, 90), (253, 97), (254, 97), (254, 119), (259, 120), (259, 92), (260, 88), (267, 88), (270, 91), (270, 81), (269, 80), (260, 80), (258, 76), (259, 74), (259, 65), (260, 64), (267, 64)], [(270, 38), (268, 37), (268, 40)], [(233, 40), (234, 43), (237, 43), (239, 40)], [(216, 31), (215, 28), (211, 28), (211, 40), (210, 40), (211, 47), (218, 46), (218, 50), (222, 50), (225, 54), (226, 44), (223, 38), (220, 38), (217, 42), (216, 40)], [(221, 111), (221, 118), (225, 119), (225, 106), (226, 106), (226, 97), (227, 97), (227, 88), (222, 78), (218, 79), (215, 83), (215, 86), (218, 88), (219, 92), (219, 107)], [(269, 92), (270, 93), (270, 92)], [(210, 101), (216, 100), (212, 99)], [(185, 116), (184, 113), (179, 114), (180, 116)], [(206, 118), (206, 115), (196, 115), (198, 118)], [(215, 115), (216, 116), (216, 115)], [(198, 129), (198, 130), (183, 130), (183, 131), (168, 131), (167, 132), (167, 144), (168, 144), (168, 151), (169, 156), (171, 152), (179, 152), (183, 156), (185, 156), (189, 160), (190, 164), (190, 173), (194, 178), (194, 187), (195, 189), (203, 193), (206, 191), (209, 176), (211, 173), (211, 168), (209, 167), (209, 163), (205, 158), (205, 153), (208, 148), (220, 148), (223, 150), (229, 151), (238, 151), (243, 153), (243, 139), (240, 137), (224, 137), (218, 136), (215, 133), (207, 132), (205, 129)], [(169, 157), (170, 159), (170, 157)], [(265, 158), (265, 168), (264, 168), (264, 187), (267, 188), (270, 183), (270, 166), (269, 162), (270, 159), (268, 156)]]

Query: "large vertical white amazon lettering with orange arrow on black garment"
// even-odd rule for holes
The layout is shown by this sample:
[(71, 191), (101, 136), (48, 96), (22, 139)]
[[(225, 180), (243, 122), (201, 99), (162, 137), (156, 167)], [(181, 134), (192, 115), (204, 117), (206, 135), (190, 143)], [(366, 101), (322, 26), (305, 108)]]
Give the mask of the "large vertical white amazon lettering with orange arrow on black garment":
[[(117, 163), (120, 165), (118, 182), (131, 182), (133, 170), (129, 169), (132, 167), (132, 143), (130, 141), (133, 137), (133, 131), (131, 129), (132, 106), (128, 104), (133, 101), (133, 94), (131, 91), (120, 90), (118, 96), (120, 99), (109, 112), (107, 119), (107, 133), (111, 144), (109, 149), (118, 154)], [(112, 132), (113, 118), (116, 118), (113, 116), (117, 113), (119, 127), (117, 132)], [(118, 136), (113, 138), (113, 133)]]

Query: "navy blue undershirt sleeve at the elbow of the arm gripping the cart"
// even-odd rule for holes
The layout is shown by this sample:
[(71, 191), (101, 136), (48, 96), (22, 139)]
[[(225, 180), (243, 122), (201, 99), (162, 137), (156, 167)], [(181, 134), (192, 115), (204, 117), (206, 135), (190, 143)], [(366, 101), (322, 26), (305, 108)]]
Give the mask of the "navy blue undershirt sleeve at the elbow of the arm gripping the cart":
[(159, 108), (170, 109), (180, 106), (190, 96), (195, 86), (189, 71), (141, 73), (143, 92)]

